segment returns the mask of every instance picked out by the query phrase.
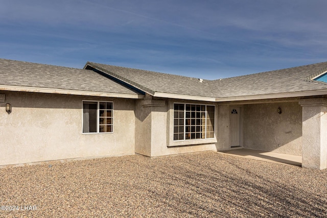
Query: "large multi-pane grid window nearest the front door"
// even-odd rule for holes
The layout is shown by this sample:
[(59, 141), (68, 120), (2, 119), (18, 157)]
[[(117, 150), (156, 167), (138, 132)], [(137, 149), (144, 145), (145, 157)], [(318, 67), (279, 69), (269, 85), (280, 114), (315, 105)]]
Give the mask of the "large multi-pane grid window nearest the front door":
[(174, 104), (174, 140), (214, 138), (215, 106)]

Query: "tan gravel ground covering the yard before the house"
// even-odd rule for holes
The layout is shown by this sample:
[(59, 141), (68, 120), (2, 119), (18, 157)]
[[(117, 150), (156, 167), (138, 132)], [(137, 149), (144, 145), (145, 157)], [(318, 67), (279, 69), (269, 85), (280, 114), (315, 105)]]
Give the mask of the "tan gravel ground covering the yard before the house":
[(327, 217), (326, 170), (214, 152), (58, 162), (0, 174), (0, 205), (18, 207), (2, 207), (0, 217)]

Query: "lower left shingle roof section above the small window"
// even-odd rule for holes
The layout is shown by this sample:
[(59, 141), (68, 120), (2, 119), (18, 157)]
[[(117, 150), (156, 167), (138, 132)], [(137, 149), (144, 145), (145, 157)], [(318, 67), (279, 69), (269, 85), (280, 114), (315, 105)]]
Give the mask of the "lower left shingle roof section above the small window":
[(0, 59), (0, 85), (137, 95), (92, 70), (6, 59)]

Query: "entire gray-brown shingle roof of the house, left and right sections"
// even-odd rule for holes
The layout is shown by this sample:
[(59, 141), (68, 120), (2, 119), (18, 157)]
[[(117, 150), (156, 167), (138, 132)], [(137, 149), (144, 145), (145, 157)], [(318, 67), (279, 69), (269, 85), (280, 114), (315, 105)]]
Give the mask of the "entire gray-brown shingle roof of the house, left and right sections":
[[(87, 62), (84, 68), (86, 69), (0, 59), (0, 86), (139, 94), (106, 78), (110, 76), (152, 95), (159, 92), (201, 98), (237, 98), (327, 90), (327, 83), (311, 80), (327, 70), (327, 62), (203, 82), (197, 78), (92, 62)], [(107, 76), (88, 70), (89, 68), (95, 68)]]

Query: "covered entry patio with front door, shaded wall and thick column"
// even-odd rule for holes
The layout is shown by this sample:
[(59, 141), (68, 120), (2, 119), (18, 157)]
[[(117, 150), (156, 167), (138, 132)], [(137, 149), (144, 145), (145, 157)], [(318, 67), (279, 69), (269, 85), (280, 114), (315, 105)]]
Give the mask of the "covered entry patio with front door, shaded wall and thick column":
[(219, 103), (217, 150), (252, 159), (325, 169), (326, 114), (325, 98)]

